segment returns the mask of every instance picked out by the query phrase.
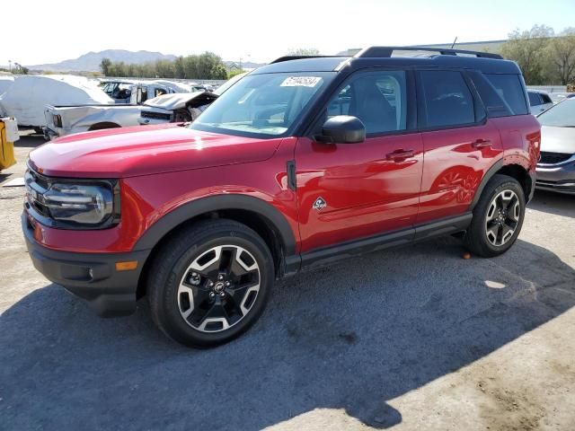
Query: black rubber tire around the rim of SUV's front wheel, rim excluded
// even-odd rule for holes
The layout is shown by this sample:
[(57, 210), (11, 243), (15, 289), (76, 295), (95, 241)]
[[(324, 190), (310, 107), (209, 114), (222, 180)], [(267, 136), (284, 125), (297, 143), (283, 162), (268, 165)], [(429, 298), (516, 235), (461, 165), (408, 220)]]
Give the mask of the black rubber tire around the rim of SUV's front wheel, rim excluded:
[[(270, 251), (261, 237), (247, 227), (234, 229), (233, 232), (224, 227), (219, 232), (212, 230), (209, 233), (201, 233), (196, 231), (186, 235), (186, 237), (194, 245), (190, 247), (181, 246), (182, 250), (178, 258), (172, 262), (164, 262), (165, 265), (171, 267), (169, 271), (166, 271), (165, 277), (161, 277), (164, 279), (154, 280), (155, 286), (153, 288), (160, 289), (159, 295), (155, 295), (155, 301), (159, 302), (155, 304), (158, 323), (168, 336), (181, 344), (193, 347), (217, 346), (248, 330), (263, 312), (269, 300), (274, 279)], [(260, 290), (250, 312), (233, 327), (212, 333), (195, 330), (181, 317), (178, 306), (177, 292), (181, 277), (183, 277), (184, 271), (190, 267), (191, 262), (197, 259), (199, 255), (213, 247), (226, 244), (240, 246), (249, 251), (256, 259), (260, 267)]]

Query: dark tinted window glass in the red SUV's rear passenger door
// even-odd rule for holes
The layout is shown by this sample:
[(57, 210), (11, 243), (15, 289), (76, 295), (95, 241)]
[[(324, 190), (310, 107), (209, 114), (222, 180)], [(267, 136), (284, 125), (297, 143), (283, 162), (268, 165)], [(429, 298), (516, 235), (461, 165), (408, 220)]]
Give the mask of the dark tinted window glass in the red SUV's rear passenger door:
[(473, 97), (464, 77), (455, 71), (422, 71), (420, 82), (427, 128), (473, 124)]

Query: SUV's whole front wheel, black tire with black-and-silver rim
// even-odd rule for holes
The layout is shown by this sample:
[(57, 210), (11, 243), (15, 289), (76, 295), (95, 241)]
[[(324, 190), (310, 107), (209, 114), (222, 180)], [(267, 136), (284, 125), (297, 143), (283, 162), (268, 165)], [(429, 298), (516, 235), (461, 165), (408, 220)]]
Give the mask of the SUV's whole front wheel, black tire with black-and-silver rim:
[(165, 242), (148, 271), (147, 296), (160, 330), (190, 347), (215, 347), (248, 330), (274, 280), (261, 237), (232, 220), (202, 221)]

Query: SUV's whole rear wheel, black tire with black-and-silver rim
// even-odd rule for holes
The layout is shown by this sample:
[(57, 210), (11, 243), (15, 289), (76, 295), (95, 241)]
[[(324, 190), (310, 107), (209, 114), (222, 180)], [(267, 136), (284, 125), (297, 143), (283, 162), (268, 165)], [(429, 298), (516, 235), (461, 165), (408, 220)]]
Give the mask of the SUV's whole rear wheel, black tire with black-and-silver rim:
[(484, 258), (499, 256), (517, 241), (525, 218), (525, 192), (507, 175), (494, 175), (473, 209), (465, 245)]

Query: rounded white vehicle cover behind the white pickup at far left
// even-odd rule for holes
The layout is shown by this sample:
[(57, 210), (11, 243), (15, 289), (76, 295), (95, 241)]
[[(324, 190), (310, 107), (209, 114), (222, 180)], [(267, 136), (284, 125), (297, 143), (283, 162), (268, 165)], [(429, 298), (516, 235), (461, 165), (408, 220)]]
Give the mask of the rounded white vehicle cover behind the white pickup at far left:
[(83, 76), (37, 75), (18, 77), (0, 96), (0, 110), (21, 126), (46, 126), (44, 105), (114, 104), (102, 89)]

